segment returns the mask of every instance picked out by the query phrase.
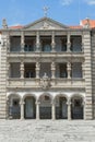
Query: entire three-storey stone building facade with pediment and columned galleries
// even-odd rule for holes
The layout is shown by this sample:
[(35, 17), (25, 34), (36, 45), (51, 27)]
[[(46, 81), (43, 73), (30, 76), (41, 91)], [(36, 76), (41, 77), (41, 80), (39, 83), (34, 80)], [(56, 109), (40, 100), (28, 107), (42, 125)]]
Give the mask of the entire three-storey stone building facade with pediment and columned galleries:
[(95, 29), (43, 17), (0, 29), (0, 118), (95, 119)]

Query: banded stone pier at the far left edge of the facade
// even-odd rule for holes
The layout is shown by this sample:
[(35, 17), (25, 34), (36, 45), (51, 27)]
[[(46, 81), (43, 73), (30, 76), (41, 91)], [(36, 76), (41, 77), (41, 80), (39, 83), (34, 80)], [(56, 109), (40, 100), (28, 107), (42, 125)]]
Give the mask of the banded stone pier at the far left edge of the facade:
[(0, 45), (0, 119), (7, 118), (7, 36)]

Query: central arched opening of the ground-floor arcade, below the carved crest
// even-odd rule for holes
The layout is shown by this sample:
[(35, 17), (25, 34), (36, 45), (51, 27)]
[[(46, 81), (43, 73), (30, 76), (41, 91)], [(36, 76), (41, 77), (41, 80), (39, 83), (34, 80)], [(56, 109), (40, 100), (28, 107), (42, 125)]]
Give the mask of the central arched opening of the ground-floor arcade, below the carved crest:
[(51, 119), (51, 99), (48, 95), (41, 95), (39, 97), (39, 118)]

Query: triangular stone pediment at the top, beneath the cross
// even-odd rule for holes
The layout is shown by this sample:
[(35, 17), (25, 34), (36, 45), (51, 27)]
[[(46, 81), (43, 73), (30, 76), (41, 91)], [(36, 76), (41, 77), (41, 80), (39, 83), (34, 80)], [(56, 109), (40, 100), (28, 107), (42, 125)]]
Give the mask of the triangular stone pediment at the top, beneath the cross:
[(64, 28), (69, 27), (49, 17), (43, 17), (38, 21), (35, 21), (34, 23), (24, 26), (24, 29), (64, 29)]

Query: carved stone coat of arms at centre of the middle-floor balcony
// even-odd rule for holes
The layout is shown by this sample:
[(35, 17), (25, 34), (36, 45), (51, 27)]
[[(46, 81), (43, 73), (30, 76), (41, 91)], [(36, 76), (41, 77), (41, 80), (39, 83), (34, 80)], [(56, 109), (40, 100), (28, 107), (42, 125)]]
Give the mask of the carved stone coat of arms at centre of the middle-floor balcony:
[(44, 74), (43, 79), (40, 79), (40, 85), (43, 90), (48, 90), (50, 87), (50, 79), (47, 73)]

